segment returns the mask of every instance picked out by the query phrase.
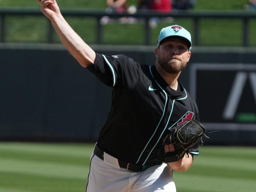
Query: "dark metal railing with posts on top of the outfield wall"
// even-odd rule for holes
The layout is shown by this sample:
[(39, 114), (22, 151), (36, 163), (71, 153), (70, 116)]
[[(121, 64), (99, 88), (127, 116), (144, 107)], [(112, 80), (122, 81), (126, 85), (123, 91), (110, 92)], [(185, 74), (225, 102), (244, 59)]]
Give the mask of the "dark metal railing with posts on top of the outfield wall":
[[(96, 40), (97, 44), (102, 44), (102, 25), (100, 23), (100, 19), (103, 16), (109, 16), (111, 18), (121, 18), (121, 17), (129, 17), (132, 16), (134, 18), (143, 18), (144, 25), (144, 44), (150, 44), (151, 37), (151, 28), (149, 26), (149, 20), (153, 17), (165, 18), (189, 18), (193, 20), (193, 34), (192, 37), (193, 45), (200, 45), (200, 20), (210, 18), (210, 19), (240, 19), (243, 23), (242, 30), (242, 38), (243, 38), (243, 46), (249, 46), (249, 21), (251, 19), (256, 18), (255, 11), (186, 11), (186, 12), (171, 12), (171, 13), (159, 13), (153, 11), (138, 11), (135, 14), (129, 13), (107, 13), (104, 10), (85, 10), (85, 9), (61, 9), (63, 16), (73, 16), (73, 17), (94, 17), (97, 19), (96, 25)], [(4, 43), (6, 40), (6, 16), (9, 15), (32, 15), (32, 16), (43, 16), (42, 12), (39, 9), (34, 8), (1, 8), (0, 9), (0, 17), (1, 17), (1, 36), (0, 42)], [(48, 43), (53, 43), (53, 27), (49, 22), (48, 27)]]

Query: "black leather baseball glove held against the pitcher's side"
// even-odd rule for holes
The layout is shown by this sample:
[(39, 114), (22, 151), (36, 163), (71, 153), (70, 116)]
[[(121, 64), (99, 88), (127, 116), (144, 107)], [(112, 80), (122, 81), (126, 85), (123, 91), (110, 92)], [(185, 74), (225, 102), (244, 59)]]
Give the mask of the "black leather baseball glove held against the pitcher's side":
[[(185, 121), (183, 124), (172, 129), (171, 133), (167, 135), (163, 143), (163, 162), (170, 163), (179, 161), (188, 153), (188, 149), (193, 144), (201, 140), (204, 134), (204, 126), (196, 120)], [(164, 146), (169, 144), (174, 145), (175, 151), (165, 153)]]

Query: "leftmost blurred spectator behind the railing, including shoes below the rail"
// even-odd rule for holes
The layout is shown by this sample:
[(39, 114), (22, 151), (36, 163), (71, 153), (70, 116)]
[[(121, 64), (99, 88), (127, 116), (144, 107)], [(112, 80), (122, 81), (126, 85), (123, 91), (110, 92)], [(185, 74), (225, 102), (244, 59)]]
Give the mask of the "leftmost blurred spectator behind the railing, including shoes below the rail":
[[(131, 6), (129, 7), (126, 0), (107, 0), (107, 9), (106, 12), (111, 13), (111, 12), (118, 12), (118, 13), (123, 13), (123, 12), (134, 12), (134, 8)], [(133, 9), (132, 9), (133, 8)], [(136, 9), (136, 8), (135, 8)], [(136, 12), (136, 10), (135, 10)], [(113, 19), (110, 19), (108, 16), (104, 16), (101, 18), (100, 23), (102, 25), (106, 25), (109, 21)], [(119, 19), (121, 23), (135, 23), (136, 19), (133, 17), (122, 17)]]

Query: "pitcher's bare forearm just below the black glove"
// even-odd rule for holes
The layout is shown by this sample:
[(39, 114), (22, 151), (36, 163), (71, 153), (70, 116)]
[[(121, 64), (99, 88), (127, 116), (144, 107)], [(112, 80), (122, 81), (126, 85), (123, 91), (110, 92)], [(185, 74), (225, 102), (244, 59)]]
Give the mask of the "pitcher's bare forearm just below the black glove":
[(174, 171), (184, 172), (184, 171), (187, 171), (189, 167), (191, 167), (191, 165), (193, 164), (193, 158), (191, 154), (188, 153), (188, 155), (186, 154), (179, 161), (171, 162), (168, 164)]

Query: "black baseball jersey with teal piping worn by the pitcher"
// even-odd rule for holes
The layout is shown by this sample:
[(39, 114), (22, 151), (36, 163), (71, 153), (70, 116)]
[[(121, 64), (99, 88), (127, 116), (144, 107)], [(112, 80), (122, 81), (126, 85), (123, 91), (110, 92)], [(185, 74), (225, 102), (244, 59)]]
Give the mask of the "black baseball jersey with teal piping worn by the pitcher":
[[(162, 164), (160, 150), (170, 129), (186, 120), (199, 121), (198, 108), (180, 84), (173, 90), (155, 65), (141, 65), (124, 55), (96, 53), (88, 68), (112, 87), (112, 105), (98, 146), (132, 164)], [(198, 144), (189, 152), (198, 155)]]

